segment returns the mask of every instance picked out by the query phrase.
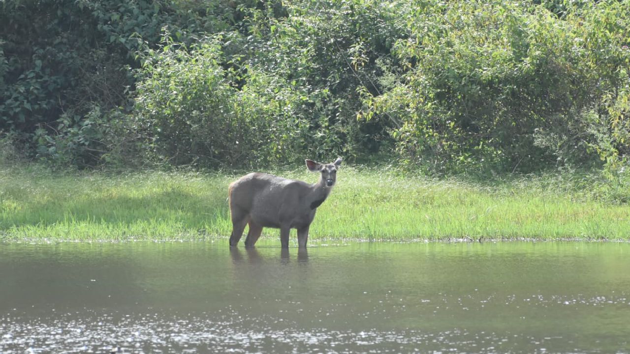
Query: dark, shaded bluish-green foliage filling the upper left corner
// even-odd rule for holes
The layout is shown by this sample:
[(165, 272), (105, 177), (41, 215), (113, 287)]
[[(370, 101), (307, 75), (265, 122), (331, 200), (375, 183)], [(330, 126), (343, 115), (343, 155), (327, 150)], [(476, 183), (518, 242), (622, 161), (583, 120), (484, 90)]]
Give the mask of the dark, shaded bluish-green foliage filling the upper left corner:
[(105, 147), (95, 143), (98, 132), (124, 124), (118, 111), (130, 108), (137, 52), (156, 48), (165, 27), (186, 43), (238, 28), (241, 13), (252, 6), (227, 0), (1, 1), (0, 130), (18, 135), (31, 157), (99, 164), (113, 151), (90, 149)]

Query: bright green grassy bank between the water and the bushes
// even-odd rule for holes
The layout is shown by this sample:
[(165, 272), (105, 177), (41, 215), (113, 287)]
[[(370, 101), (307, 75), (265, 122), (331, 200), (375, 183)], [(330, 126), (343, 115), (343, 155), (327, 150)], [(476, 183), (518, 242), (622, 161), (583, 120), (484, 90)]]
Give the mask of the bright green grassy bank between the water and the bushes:
[[(0, 241), (228, 237), (227, 185), (237, 177), (0, 168)], [(610, 202), (609, 192), (603, 181), (575, 175), (433, 180), (345, 168), (311, 239), (630, 239), (630, 207)], [(277, 239), (278, 231), (263, 235)]]

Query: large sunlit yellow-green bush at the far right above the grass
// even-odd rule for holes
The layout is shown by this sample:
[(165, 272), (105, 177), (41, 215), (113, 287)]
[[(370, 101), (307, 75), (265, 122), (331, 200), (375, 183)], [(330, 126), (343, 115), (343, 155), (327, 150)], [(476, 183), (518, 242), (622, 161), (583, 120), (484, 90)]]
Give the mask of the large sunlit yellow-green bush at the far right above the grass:
[(419, 4), (396, 45), (406, 72), (366, 97), (366, 115), (403, 122), (399, 152), (432, 171), (597, 163), (627, 149), (610, 108), (629, 83), (629, 9), (580, 3), (558, 17), (527, 2)]

